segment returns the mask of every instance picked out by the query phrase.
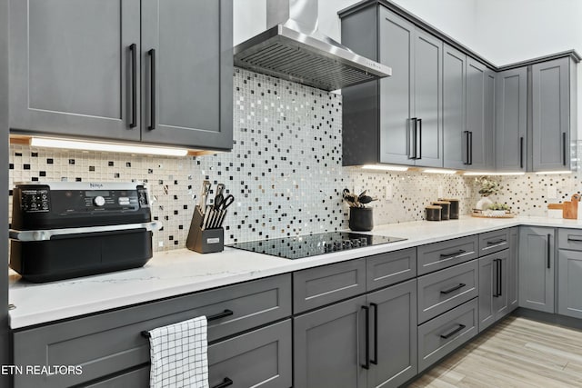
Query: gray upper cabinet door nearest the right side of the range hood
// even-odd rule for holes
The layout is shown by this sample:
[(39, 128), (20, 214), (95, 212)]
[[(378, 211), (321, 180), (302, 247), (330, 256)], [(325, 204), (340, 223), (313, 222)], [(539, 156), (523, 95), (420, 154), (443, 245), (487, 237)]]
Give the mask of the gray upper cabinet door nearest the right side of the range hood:
[(392, 76), (380, 80), (380, 162), (414, 164), (411, 120), (413, 45), (416, 27), (380, 7), (380, 62)]

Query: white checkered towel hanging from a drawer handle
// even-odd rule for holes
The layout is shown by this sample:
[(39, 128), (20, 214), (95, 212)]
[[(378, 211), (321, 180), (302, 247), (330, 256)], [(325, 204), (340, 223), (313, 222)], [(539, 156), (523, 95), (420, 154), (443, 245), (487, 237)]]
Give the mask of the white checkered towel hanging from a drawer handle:
[(151, 330), (153, 388), (208, 388), (206, 316)]

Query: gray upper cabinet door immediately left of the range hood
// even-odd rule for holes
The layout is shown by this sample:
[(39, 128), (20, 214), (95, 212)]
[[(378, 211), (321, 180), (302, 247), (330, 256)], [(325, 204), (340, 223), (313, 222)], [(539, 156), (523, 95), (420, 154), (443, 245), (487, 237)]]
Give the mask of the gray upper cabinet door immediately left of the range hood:
[(232, 12), (232, 0), (142, 1), (144, 142), (232, 148)]

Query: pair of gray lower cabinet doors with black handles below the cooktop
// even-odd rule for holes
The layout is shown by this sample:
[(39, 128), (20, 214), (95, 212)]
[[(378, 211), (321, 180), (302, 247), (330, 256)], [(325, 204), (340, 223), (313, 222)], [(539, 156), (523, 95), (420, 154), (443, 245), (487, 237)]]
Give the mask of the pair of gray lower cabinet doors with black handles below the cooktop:
[(405, 383), (417, 373), (416, 280), (296, 316), (294, 344), (297, 387)]

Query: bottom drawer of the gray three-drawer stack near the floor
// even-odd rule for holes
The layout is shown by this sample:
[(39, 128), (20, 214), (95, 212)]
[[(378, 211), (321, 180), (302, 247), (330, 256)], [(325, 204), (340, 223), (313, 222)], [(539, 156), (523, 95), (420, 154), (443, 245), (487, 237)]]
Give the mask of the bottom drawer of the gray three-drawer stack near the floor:
[(478, 298), (418, 326), (418, 372), (477, 335)]

